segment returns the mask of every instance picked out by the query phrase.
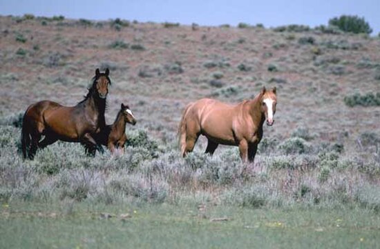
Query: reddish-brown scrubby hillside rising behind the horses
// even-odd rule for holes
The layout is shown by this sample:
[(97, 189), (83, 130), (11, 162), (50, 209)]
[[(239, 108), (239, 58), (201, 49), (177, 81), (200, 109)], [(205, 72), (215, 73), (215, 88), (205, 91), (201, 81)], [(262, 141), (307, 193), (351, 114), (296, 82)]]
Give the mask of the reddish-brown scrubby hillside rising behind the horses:
[(95, 68), (108, 67), (114, 83), (108, 123), (124, 101), (140, 127), (175, 132), (189, 101), (234, 103), (276, 86), (276, 123), (266, 135), (289, 137), (299, 127), (321, 140), (379, 132), (378, 107), (343, 101), (380, 92), (379, 39), (166, 24), (1, 17), (0, 113), (23, 112), (41, 99), (74, 105)]

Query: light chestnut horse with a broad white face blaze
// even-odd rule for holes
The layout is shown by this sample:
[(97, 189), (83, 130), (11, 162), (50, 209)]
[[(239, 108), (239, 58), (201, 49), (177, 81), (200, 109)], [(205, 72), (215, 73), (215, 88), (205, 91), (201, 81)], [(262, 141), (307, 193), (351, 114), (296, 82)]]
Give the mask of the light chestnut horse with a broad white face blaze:
[(237, 105), (215, 99), (200, 99), (184, 109), (178, 133), (182, 157), (193, 151), (200, 135), (207, 137), (205, 153), (213, 155), (219, 144), (238, 146), (243, 162), (253, 162), (263, 137), (263, 123), (274, 123), (276, 88), (265, 87), (254, 99)]

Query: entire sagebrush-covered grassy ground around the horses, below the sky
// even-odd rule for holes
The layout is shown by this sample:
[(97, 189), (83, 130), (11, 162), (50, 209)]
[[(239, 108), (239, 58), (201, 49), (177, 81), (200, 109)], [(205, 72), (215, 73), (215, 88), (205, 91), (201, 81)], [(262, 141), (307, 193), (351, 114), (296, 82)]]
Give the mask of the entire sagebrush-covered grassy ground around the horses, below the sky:
[[(380, 39), (305, 26), (201, 27), (0, 17), (0, 248), (376, 248)], [(26, 108), (73, 106), (110, 68), (107, 123), (137, 119), (124, 155), (57, 142), (20, 152)], [(182, 159), (184, 106), (276, 86), (255, 162)], [(217, 219), (217, 220), (215, 220)], [(218, 221), (222, 219), (222, 221)]]

